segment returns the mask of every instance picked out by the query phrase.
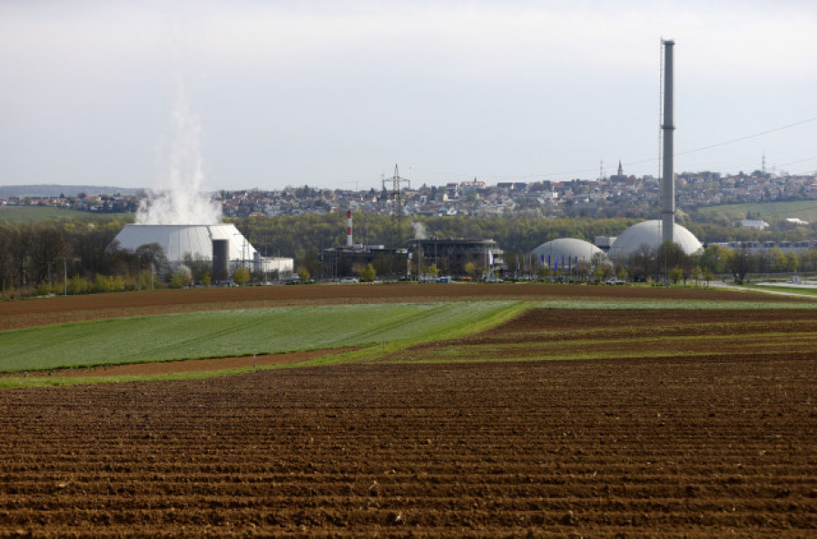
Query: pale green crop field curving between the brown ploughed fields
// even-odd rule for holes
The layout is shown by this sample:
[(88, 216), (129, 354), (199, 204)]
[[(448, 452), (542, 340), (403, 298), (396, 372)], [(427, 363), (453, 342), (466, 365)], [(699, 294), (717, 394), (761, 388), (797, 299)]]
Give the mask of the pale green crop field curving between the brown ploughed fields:
[(244, 309), (0, 332), (0, 371), (21, 372), (452, 338), (508, 319), (508, 301)]

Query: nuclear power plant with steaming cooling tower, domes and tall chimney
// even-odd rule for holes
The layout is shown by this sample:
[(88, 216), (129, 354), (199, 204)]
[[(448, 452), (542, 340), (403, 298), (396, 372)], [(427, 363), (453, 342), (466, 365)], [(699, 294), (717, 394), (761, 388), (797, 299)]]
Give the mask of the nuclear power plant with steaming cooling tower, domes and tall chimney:
[[(617, 260), (626, 260), (636, 251), (645, 248), (657, 251), (666, 242), (680, 246), (687, 254), (703, 249), (694, 234), (675, 222), (674, 184), (674, 41), (662, 40), (662, 90), (661, 90), (661, 158), (660, 158), (660, 214), (658, 219), (645, 220), (622, 232), (617, 238), (596, 239), (596, 245), (585, 240), (558, 239), (548, 241), (531, 251), (539, 264), (547, 264), (555, 269), (573, 268), (580, 262), (597, 263), (605, 254)], [(197, 173), (198, 175), (201, 175)], [(193, 174), (196, 176), (197, 174)], [(619, 165), (619, 175), (621, 175)], [(178, 176), (178, 174), (176, 175)], [(402, 215), (400, 181), (397, 165), (391, 179), (389, 193), (394, 198), (394, 216), (397, 224), (392, 226), (392, 246), (355, 243), (353, 239), (352, 211), (347, 211), (346, 242), (344, 246), (324, 249), (320, 252), (320, 262), (325, 275), (332, 278), (351, 277), (359, 274), (365, 266), (377, 267), (378, 275), (389, 277), (409, 277), (412, 273), (422, 273), (424, 264), (435, 264), (438, 268), (457, 273), (468, 262), (485, 268), (504, 268), (502, 251), (493, 240), (441, 239), (409, 241), (408, 249), (401, 246), (399, 218)], [(386, 180), (383, 180), (386, 190)], [(185, 194), (187, 193), (187, 194)], [(136, 250), (140, 246), (157, 243), (172, 264), (181, 264), (186, 256), (193, 260), (212, 260), (213, 275), (229, 275), (239, 267), (257, 272), (293, 270), (293, 260), (286, 258), (265, 258), (253, 247), (249, 240), (232, 224), (221, 224), (220, 215), (216, 219), (202, 218), (213, 224), (184, 222), (196, 220), (195, 216), (212, 215), (212, 208), (202, 201), (202, 194), (191, 193), (182, 187), (170, 195), (162, 193), (154, 199), (153, 214), (144, 214), (142, 224), (126, 225), (116, 236), (116, 245), (124, 250)], [(190, 197), (190, 200), (185, 200)], [(198, 198), (197, 198), (198, 197)], [(218, 213), (218, 212), (217, 212)], [(158, 215), (157, 215), (158, 214)], [(167, 217), (174, 216), (174, 217)], [(180, 222), (181, 221), (181, 222)], [(148, 224), (150, 223), (150, 224)], [(397, 238), (397, 240), (396, 240)], [(412, 258), (414, 260), (412, 260)]]

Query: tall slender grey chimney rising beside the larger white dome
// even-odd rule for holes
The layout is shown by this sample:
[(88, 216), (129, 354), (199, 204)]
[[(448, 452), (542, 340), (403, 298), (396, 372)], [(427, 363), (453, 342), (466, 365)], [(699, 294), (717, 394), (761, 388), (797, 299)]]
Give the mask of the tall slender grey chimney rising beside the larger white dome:
[(675, 223), (675, 177), (673, 163), (673, 132), (675, 130), (673, 111), (673, 40), (661, 40), (664, 44), (664, 133), (663, 168), (661, 172), (661, 222), (662, 243), (674, 241)]

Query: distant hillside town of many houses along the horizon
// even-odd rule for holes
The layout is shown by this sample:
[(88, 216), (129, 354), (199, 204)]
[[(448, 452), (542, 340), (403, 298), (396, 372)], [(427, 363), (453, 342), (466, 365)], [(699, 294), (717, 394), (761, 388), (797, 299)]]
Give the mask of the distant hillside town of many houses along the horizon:
[[(410, 180), (410, 179), (409, 179)], [(409, 184), (410, 185), (410, 184)], [(52, 186), (54, 187), (54, 186)], [(394, 192), (387, 179), (383, 188), (355, 191), (287, 187), (277, 191), (217, 191), (228, 218), (301, 215), (331, 211), (391, 213)], [(133, 190), (130, 190), (133, 191)], [(817, 200), (817, 175), (776, 175), (753, 171), (722, 175), (701, 171), (676, 174), (679, 209), (730, 203)], [(147, 192), (85, 194), (61, 192), (57, 196), (8, 196), (0, 206), (46, 206), (95, 213), (133, 212)], [(531, 217), (630, 217), (655, 212), (659, 204), (659, 181), (652, 176), (626, 175), (619, 165), (615, 175), (599, 180), (498, 182), (449, 182), (445, 186), (401, 184), (399, 199), (405, 215), (467, 215), (476, 217), (527, 214)]]

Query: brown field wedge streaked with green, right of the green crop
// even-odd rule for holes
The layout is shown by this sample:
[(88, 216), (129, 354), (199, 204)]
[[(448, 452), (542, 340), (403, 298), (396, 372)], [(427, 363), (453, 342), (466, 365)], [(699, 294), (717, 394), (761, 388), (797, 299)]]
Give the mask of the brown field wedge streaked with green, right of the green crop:
[(813, 309), (529, 309), (483, 333), (426, 343), (389, 361), (798, 354), (817, 358)]

